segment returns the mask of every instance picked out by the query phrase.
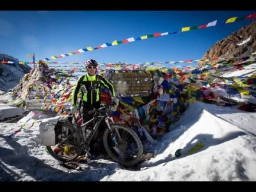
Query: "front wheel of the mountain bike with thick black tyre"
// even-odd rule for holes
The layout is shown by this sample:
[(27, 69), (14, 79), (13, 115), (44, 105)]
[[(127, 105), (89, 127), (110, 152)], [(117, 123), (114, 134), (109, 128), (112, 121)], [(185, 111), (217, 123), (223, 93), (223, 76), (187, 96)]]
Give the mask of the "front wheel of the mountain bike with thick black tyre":
[[(113, 161), (125, 166), (138, 164), (143, 155), (143, 145), (136, 132), (124, 125), (114, 124), (110, 127), (114, 135), (111, 136), (109, 129), (106, 129), (103, 134), (103, 144), (108, 155)], [(113, 138), (116, 139), (118, 145), (115, 145)]]

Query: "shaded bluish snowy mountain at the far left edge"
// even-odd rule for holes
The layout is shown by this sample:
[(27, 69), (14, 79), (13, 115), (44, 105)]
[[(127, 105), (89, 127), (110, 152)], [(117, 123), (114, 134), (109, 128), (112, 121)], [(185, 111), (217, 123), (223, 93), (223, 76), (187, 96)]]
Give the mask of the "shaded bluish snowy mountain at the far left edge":
[(0, 91), (7, 92), (14, 88), (24, 77), (24, 74), (28, 74), (31, 67), (28, 65), (16, 64), (16, 63), (1, 63), (1, 61), (17, 61), (17, 58), (0, 52)]

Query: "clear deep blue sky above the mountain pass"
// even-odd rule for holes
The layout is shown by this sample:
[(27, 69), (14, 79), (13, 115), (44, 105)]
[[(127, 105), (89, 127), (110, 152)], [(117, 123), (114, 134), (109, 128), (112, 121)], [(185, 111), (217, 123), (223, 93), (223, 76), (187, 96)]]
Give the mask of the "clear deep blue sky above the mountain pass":
[[(213, 20), (246, 17), (255, 11), (1, 11), (0, 51), (20, 61), (32, 61), (97, 47), (114, 40), (153, 33), (181, 31)], [(252, 19), (180, 34), (149, 38), (127, 44), (83, 52), (58, 62), (146, 63), (154, 61), (198, 60), (218, 40), (230, 35)], [(239, 42), (237, 42), (239, 43)]]

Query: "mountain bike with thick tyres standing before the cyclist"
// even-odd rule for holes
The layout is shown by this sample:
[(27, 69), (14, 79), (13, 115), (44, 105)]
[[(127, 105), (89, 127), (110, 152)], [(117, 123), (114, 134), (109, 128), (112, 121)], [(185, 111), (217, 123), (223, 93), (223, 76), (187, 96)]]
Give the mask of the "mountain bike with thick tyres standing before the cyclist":
[[(83, 124), (77, 123), (77, 118), (72, 114), (72, 121), (61, 122), (61, 141), (55, 146), (46, 146), (49, 154), (54, 159), (62, 162), (73, 161), (81, 156), (82, 152), (90, 154), (90, 143), (95, 136), (102, 120), (106, 122), (102, 136), (104, 148), (113, 161), (125, 166), (138, 164), (143, 156), (143, 145), (141, 140), (131, 128), (123, 124), (115, 124), (113, 117), (109, 115), (111, 105), (100, 106), (99, 109), (89, 111), (93, 118)], [(87, 129), (92, 125), (92, 130)], [(54, 148), (55, 147), (55, 148)], [(57, 148), (57, 150), (56, 150)]]

